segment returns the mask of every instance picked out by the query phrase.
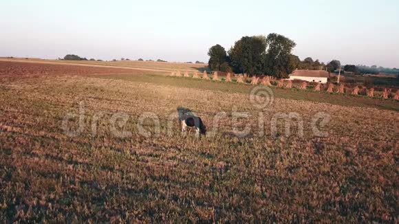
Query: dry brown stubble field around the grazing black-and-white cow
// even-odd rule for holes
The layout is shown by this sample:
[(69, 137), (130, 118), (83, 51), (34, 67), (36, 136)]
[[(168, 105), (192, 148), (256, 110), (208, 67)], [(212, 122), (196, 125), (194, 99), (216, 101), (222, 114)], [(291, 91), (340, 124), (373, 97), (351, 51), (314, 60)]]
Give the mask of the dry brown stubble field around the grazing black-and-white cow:
[[(258, 109), (251, 88), (151, 74), (0, 77), (0, 221), (398, 221), (399, 102), (276, 88)], [(182, 135), (177, 120), (168, 132), (179, 106), (202, 117), (207, 137)], [(248, 117), (233, 120), (237, 111)], [(330, 121), (313, 124), (321, 112)], [(149, 113), (159, 133), (140, 122)], [(303, 135), (295, 120), (291, 135), (283, 120), (272, 131), (282, 113), (303, 120)], [(119, 115), (125, 124), (112, 122)]]

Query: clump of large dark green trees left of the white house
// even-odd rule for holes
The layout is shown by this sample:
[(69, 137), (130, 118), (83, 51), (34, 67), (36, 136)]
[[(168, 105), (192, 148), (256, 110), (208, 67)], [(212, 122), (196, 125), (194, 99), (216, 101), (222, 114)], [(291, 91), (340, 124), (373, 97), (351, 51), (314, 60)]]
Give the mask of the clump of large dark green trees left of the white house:
[(295, 45), (290, 38), (280, 34), (243, 36), (228, 52), (221, 45), (211, 47), (208, 67), (217, 71), (284, 78), (299, 63), (299, 58), (292, 54)]

